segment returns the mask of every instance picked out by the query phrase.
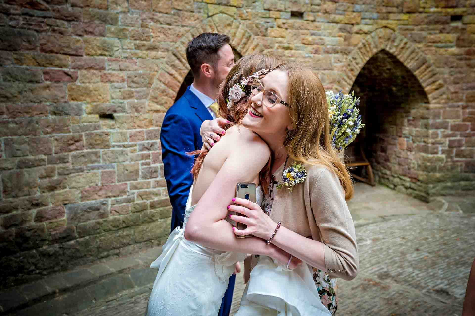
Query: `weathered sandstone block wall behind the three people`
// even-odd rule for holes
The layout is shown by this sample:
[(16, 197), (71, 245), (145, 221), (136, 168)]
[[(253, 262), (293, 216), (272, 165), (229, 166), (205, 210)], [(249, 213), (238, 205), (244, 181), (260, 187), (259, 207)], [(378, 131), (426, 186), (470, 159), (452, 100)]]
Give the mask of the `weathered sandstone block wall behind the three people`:
[(384, 105), (404, 115), (382, 122), (380, 179), (424, 200), (473, 190), (473, 0), (0, 0), (3, 287), (166, 239), (160, 126), (204, 31), (312, 65), (334, 91), (394, 56), (424, 101)]

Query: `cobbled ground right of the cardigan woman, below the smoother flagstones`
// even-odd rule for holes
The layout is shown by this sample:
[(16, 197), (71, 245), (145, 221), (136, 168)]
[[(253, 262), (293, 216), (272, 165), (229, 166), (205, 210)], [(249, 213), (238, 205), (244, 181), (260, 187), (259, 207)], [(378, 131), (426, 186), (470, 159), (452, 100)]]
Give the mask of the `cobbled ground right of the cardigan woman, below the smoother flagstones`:
[(400, 216), (357, 228), (360, 273), (339, 280), (340, 315), (461, 315), (475, 216)]

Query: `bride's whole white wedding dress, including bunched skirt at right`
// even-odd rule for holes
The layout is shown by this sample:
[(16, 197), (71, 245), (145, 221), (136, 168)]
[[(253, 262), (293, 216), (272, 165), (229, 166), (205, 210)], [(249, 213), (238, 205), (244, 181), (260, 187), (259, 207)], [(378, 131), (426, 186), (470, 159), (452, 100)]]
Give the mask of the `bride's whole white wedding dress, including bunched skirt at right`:
[[(158, 269), (146, 316), (216, 316), (228, 288), (236, 261), (245, 254), (216, 251), (187, 241), (186, 223), (196, 205), (191, 193), (186, 205), (183, 228), (175, 228), (151, 264)], [(257, 186), (256, 202), (263, 192)], [(318, 295), (312, 268), (303, 264), (286, 269), (272, 258), (260, 256), (235, 316), (327, 316), (331, 315)]]

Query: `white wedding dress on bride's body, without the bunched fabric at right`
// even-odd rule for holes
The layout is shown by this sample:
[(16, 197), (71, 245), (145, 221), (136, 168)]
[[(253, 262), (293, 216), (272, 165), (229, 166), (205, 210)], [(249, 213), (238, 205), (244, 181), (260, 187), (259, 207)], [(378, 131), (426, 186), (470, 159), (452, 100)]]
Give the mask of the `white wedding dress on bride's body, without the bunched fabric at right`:
[[(257, 187), (256, 199), (263, 198)], [(157, 260), (158, 269), (149, 298), (146, 316), (216, 316), (237, 261), (246, 254), (223, 252), (185, 239), (186, 223), (196, 205), (191, 206), (190, 188), (183, 228), (171, 232)], [(217, 236), (218, 237), (218, 236)]]

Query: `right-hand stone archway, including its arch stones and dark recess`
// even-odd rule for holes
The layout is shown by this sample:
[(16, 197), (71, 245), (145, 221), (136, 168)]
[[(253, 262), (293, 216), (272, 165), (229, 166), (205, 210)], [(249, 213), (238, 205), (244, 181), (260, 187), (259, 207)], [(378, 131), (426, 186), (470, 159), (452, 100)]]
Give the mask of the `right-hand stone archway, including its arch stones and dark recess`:
[(426, 160), (438, 154), (430, 144), (439, 137), (429, 131), (430, 111), (448, 102), (432, 63), (407, 38), (381, 28), (348, 56), (338, 84), (361, 95), (367, 103), (362, 115), (371, 114), (363, 118), (368, 129), (355, 140), (353, 153), (357, 146), (364, 149), (378, 182), (428, 201), (430, 183), (423, 179), (434, 166)]

